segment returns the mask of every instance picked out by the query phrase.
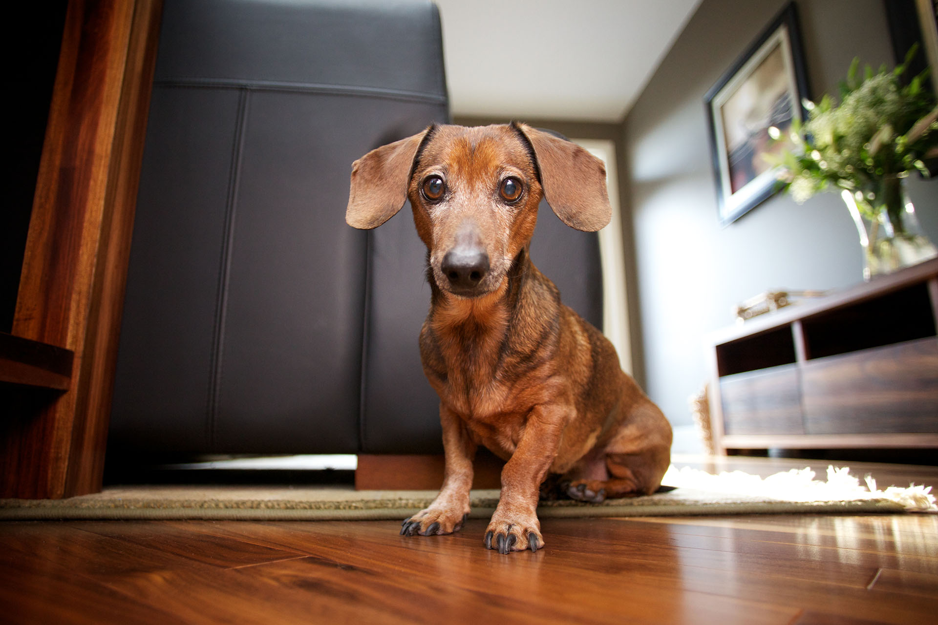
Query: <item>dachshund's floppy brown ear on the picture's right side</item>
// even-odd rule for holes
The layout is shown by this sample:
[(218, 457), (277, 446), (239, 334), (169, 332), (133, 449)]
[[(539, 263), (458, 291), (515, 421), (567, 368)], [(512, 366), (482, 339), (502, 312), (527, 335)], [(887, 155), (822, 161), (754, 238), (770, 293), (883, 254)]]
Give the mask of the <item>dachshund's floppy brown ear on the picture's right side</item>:
[(606, 168), (573, 141), (515, 125), (530, 141), (537, 156), (540, 185), (553, 212), (570, 228), (595, 232), (613, 218), (606, 190)]

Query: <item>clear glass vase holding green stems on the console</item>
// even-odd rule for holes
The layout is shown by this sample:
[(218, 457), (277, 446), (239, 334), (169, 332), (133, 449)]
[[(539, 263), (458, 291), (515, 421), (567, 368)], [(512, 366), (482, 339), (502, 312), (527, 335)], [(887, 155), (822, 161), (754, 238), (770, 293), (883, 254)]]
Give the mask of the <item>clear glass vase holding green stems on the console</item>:
[(860, 235), (864, 280), (938, 256), (938, 249), (918, 225), (904, 180), (900, 176), (885, 176), (868, 188), (844, 190), (840, 194)]

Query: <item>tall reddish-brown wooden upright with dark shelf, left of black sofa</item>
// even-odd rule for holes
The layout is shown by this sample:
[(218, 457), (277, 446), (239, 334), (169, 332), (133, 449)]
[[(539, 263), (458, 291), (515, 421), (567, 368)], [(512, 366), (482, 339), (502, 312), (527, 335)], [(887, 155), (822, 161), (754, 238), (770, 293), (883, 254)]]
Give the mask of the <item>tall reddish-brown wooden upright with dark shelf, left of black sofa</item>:
[(12, 332), (0, 498), (97, 492), (161, 0), (69, 0)]

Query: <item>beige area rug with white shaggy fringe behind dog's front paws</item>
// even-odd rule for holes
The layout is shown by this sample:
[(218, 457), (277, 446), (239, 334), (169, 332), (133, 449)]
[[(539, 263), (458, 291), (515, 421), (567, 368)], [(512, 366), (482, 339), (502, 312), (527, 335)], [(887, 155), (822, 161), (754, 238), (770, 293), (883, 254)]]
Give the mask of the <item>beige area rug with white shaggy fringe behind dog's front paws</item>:
[[(752, 513), (935, 512), (930, 486), (878, 490), (849, 469), (827, 469), (826, 482), (810, 469), (767, 478), (742, 471), (711, 475), (697, 469), (669, 470), (669, 492), (608, 499), (600, 504), (543, 501), (542, 518), (665, 516)], [(470, 514), (486, 518), (498, 503), (497, 490), (472, 492)], [(430, 504), (435, 491), (356, 491), (351, 487), (133, 486), (108, 488), (71, 499), (0, 499), (0, 520), (13, 519), (231, 519), (382, 520), (403, 519)]]

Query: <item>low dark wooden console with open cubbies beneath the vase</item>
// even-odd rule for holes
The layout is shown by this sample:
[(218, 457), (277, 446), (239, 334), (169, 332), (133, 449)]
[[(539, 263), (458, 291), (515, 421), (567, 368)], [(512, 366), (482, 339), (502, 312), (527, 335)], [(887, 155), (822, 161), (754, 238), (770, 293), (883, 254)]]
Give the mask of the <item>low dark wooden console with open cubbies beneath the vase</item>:
[(722, 454), (938, 448), (938, 259), (711, 336)]

